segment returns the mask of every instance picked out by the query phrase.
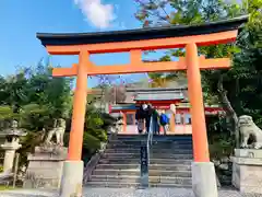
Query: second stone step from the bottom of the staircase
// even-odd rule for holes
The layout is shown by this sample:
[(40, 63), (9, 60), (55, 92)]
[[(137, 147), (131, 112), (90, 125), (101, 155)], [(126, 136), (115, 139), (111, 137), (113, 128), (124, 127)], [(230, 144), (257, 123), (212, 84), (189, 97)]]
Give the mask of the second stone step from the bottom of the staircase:
[[(140, 176), (112, 176), (112, 175), (92, 175), (92, 182), (120, 182), (120, 183), (140, 183)], [(150, 183), (168, 183), (168, 184), (181, 184), (190, 185), (192, 184), (191, 177), (170, 177), (170, 176), (150, 176)]]

